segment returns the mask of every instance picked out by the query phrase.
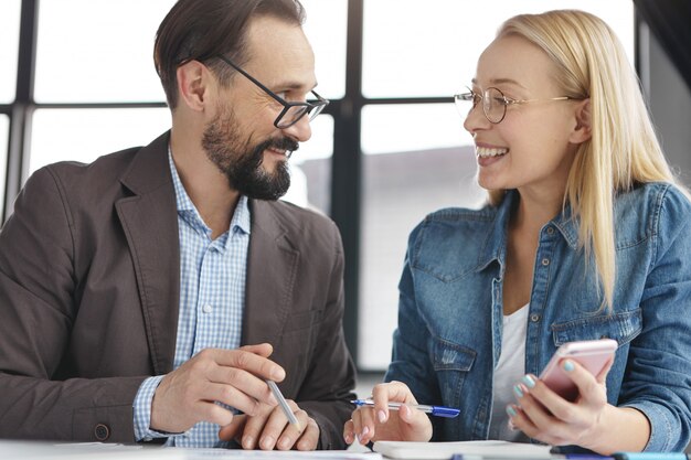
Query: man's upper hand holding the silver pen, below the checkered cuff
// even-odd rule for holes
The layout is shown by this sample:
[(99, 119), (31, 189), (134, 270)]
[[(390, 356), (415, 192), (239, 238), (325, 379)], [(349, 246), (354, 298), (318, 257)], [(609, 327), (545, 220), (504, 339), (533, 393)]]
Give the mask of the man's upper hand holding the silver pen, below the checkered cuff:
[(199, 421), (228, 425), (233, 413), (216, 402), (248, 415), (262, 405), (275, 407), (278, 402), (264, 381), (281, 382), (286, 372), (267, 359), (272, 352), (268, 343), (202, 350), (161, 379), (151, 403), (151, 429), (182, 432)]

